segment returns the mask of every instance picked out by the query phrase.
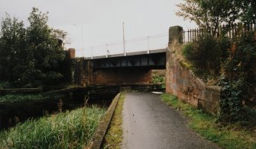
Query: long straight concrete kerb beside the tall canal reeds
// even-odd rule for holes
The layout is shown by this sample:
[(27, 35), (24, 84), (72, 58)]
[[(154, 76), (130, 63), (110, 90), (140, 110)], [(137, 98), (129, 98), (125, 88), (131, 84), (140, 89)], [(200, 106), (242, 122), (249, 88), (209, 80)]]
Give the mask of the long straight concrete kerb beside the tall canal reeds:
[(120, 97), (120, 93), (115, 96), (114, 100), (109, 106), (109, 109), (103, 116), (102, 120), (99, 122), (99, 126), (96, 130), (96, 133), (92, 137), (92, 141), (89, 142), (89, 145), (86, 148), (99, 149), (102, 147), (102, 142), (105, 137), (105, 133), (109, 128), (119, 97)]

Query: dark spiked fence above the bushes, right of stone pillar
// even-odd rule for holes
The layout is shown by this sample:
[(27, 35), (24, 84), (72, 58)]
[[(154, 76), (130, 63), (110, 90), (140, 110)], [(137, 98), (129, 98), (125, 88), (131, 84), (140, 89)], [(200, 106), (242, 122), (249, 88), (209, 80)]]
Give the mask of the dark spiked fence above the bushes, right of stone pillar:
[(225, 25), (214, 29), (198, 28), (193, 30), (182, 31), (183, 43), (190, 43), (199, 39), (199, 36), (210, 34), (212, 36), (225, 35), (230, 39), (236, 36), (245, 35), (248, 31), (256, 31), (256, 24), (232, 24)]

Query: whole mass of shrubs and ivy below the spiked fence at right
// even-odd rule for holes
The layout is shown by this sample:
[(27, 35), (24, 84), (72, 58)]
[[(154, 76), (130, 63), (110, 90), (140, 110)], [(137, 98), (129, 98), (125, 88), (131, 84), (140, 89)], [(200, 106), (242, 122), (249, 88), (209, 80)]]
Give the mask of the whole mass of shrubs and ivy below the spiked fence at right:
[(182, 53), (196, 68), (197, 76), (209, 81), (212, 77), (222, 86), (220, 120), (222, 122), (251, 122), (247, 100), (256, 85), (256, 43), (254, 33), (244, 33), (234, 40), (225, 36), (201, 36), (183, 46)]

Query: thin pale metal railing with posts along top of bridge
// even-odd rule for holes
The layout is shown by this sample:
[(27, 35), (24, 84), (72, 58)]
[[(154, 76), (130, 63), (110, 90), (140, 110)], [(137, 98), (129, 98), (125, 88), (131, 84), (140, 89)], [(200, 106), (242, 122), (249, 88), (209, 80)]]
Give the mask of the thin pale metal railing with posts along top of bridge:
[(77, 49), (76, 57), (85, 57), (93, 59), (96, 56), (124, 54), (129, 52), (143, 52), (149, 53), (151, 50), (164, 49), (168, 46), (168, 33), (159, 33), (153, 36), (144, 36), (136, 39), (119, 41), (115, 43), (106, 43), (97, 46), (86, 47), (85, 49)]

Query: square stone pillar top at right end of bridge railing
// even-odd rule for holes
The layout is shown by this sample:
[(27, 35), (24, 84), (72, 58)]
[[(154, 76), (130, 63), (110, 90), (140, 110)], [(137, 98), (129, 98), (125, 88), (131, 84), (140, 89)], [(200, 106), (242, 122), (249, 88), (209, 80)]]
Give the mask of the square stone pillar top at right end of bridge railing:
[(169, 43), (168, 46), (177, 39), (180, 43), (183, 43), (183, 27), (174, 26), (169, 28)]

